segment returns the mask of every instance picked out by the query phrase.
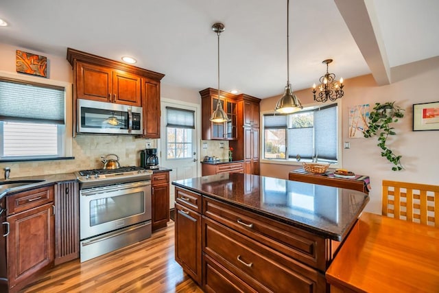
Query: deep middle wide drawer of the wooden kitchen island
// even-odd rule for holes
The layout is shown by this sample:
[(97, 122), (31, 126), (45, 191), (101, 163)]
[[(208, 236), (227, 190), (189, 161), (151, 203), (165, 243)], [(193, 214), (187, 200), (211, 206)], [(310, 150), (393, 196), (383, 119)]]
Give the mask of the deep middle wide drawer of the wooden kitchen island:
[(203, 250), (257, 292), (326, 292), (324, 275), (203, 218)]

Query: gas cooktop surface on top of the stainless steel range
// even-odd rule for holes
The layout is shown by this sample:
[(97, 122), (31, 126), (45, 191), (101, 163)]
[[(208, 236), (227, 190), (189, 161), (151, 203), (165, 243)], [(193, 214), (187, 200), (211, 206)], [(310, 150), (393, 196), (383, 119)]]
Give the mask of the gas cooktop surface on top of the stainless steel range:
[(151, 180), (152, 170), (128, 166), (117, 169), (91, 169), (75, 173), (80, 188), (100, 187), (119, 183)]

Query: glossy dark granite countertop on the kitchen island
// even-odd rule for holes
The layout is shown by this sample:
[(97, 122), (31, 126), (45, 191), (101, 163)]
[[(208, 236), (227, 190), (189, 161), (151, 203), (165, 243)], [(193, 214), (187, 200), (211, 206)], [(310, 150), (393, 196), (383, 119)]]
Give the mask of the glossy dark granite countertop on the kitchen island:
[(239, 173), (172, 184), (337, 241), (369, 201), (367, 194), (351, 189)]

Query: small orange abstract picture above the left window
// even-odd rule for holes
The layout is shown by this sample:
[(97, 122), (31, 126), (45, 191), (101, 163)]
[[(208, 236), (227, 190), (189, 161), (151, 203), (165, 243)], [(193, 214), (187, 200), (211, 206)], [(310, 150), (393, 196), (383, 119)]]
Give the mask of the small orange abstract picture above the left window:
[(47, 78), (47, 57), (16, 50), (16, 72)]

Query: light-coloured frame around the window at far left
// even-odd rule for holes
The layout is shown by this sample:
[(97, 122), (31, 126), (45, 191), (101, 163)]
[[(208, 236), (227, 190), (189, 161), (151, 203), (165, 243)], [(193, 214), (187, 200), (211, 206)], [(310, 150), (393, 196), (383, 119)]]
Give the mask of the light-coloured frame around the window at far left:
[[(59, 80), (42, 80), (32, 75), (22, 75), (19, 73), (11, 73), (8, 71), (0, 71), (0, 78), (16, 80), (26, 84), (42, 84), (43, 86), (56, 86), (64, 88), (64, 127), (58, 126), (58, 136), (64, 134), (64, 139), (59, 139), (58, 148), (62, 148), (60, 152), (62, 156), (26, 156), (26, 157), (7, 157), (0, 159), (0, 163), (21, 162), (21, 161), (50, 161), (75, 159), (73, 157), (73, 94), (72, 84), (70, 82), (62, 82)], [(62, 130), (64, 128), (64, 130)], [(1, 129), (3, 135), (3, 128)], [(3, 145), (0, 145), (3, 148)], [(3, 153), (3, 151), (2, 151)]]

